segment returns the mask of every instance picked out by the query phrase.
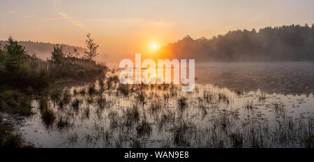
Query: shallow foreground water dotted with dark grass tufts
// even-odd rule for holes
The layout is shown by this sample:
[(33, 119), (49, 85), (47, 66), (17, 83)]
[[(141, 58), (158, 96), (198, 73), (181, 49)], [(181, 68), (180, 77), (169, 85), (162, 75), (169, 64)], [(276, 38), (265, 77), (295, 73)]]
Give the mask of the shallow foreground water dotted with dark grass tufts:
[(304, 137), (313, 133), (313, 94), (121, 86), (96, 82), (63, 89), (57, 99), (50, 94), (50, 125), (43, 122), (40, 99), (34, 100), (36, 114), (20, 130), (42, 147), (306, 147)]

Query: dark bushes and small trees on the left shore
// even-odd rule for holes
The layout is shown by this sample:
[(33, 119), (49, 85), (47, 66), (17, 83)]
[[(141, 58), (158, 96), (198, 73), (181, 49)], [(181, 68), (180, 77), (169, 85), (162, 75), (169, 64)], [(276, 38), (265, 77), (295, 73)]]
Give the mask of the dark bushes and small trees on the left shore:
[(1, 89), (45, 89), (50, 82), (62, 78), (96, 78), (107, 70), (94, 59), (98, 55), (98, 45), (87, 34), (87, 51), (77, 57), (63, 50), (63, 45), (55, 45), (51, 58), (39, 59), (36, 54), (27, 54), (11, 36), (6, 45), (0, 45)]

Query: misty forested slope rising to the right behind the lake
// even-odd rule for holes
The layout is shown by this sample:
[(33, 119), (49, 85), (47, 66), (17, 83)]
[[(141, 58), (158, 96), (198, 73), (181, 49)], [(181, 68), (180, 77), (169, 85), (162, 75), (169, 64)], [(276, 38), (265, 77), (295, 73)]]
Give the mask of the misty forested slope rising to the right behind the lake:
[(209, 39), (186, 36), (159, 52), (197, 61), (314, 61), (314, 24), (236, 30)]

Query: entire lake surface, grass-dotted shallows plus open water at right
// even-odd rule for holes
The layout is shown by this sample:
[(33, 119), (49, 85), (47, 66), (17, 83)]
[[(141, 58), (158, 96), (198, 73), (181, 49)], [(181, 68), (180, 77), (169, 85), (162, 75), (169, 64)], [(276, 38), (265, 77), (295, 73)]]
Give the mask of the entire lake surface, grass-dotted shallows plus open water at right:
[[(230, 134), (234, 132), (243, 134), (242, 147), (251, 147), (252, 138), (246, 131), (251, 128), (260, 133), (258, 141), (264, 147), (304, 147), (300, 142), (304, 141), (303, 130), (313, 131), (313, 122), (308, 124), (314, 117), (313, 62), (196, 64), (195, 77), (193, 92), (150, 87), (130, 90), (124, 96), (116, 85), (98, 94), (80, 95), (73, 94), (74, 89), (89, 89), (89, 83), (68, 86), (71, 100), (80, 101), (78, 110), (73, 110), (71, 104), (59, 108), (58, 103), (49, 101), (56, 119), (47, 126), (41, 118), (38, 99), (34, 99), (35, 114), (20, 121), (17, 128), (27, 142), (37, 147), (232, 147)], [(95, 84), (96, 90), (100, 89), (98, 82)], [(139, 91), (144, 93), (143, 105), (138, 101)], [(205, 97), (208, 95), (210, 101)], [(100, 110), (98, 101), (103, 98), (105, 108)], [(178, 108), (179, 98), (186, 98), (183, 111)], [(138, 117), (129, 121), (128, 110), (134, 106)], [(152, 107), (158, 110), (151, 112)], [(67, 119), (68, 126), (57, 126), (60, 118)], [(295, 139), (278, 142), (275, 134), (265, 133), (264, 129), (280, 131), (278, 124), (286, 124), (280, 123), (285, 119), (294, 124), (295, 128), (287, 127), (287, 131), (293, 132), (290, 134)], [(227, 124), (220, 126), (225, 121)], [(144, 122), (149, 128), (141, 133)], [(220, 137), (211, 139), (216, 134)], [(216, 145), (215, 140), (223, 143)]]

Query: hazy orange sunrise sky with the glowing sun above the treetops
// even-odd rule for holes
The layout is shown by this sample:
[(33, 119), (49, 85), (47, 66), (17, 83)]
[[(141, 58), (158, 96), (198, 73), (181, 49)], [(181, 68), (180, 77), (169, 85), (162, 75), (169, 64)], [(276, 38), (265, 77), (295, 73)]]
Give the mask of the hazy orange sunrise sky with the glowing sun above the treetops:
[[(190, 35), (312, 24), (313, 0), (0, 0), (0, 40), (84, 46), (91, 33), (99, 58), (148, 52)], [(134, 56), (134, 55), (133, 55)]]

